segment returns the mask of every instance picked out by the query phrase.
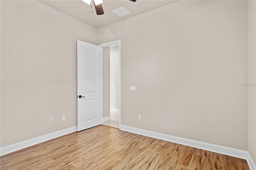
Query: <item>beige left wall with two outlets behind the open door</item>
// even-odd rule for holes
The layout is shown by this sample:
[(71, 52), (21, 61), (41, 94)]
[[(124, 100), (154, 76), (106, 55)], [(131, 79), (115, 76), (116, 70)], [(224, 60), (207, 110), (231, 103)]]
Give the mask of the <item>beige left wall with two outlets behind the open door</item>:
[(76, 126), (76, 40), (96, 44), (96, 31), (37, 1), (1, 1), (1, 147)]

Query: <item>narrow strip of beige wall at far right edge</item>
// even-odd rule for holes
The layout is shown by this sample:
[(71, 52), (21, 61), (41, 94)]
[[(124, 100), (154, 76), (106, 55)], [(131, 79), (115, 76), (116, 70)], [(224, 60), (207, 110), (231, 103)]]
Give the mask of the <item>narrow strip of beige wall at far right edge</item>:
[(256, 1), (248, 1), (248, 151), (256, 163)]

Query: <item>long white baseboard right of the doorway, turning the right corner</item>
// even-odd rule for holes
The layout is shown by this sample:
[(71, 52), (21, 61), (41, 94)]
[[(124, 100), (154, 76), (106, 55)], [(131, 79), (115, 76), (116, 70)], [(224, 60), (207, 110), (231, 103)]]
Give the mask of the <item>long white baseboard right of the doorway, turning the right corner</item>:
[(157, 138), (157, 139), (161, 139), (161, 140), (166, 140), (166, 141), (169, 141), (169, 142), (183, 144), (183, 145), (191, 146), (191, 147), (194, 147), (194, 148), (209, 150), (209, 151), (212, 151), (212, 152), (217, 152), (217, 153), (220, 153), (220, 154), (234, 156), (234, 157), (237, 157), (237, 158), (246, 159), (250, 169), (251, 170), (256, 170), (256, 166), (255, 166), (249, 152), (245, 151), (245, 150), (229, 148), (229, 147), (226, 147), (226, 146), (220, 146), (220, 145), (210, 144), (210, 143), (206, 143), (206, 142), (200, 142), (200, 141), (197, 141), (197, 140), (181, 138), (181, 137), (178, 137), (178, 136), (172, 136), (172, 135), (169, 135), (169, 134), (153, 132), (153, 131), (150, 131), (150, 130), (144, 130), (144, 129), (140, 129), (140, 128), (129, 127), (129, 126), (126, 126), (126, 125), (120, 125), (120, 130), (124, 130), (124, 131), (127, 131), (127, 132), (132, 132), (132, 133), (136, 133), (136, 134), (141, 134), (141, 135), (144, 135), (144, 136), (149, 136), (149, 137)]

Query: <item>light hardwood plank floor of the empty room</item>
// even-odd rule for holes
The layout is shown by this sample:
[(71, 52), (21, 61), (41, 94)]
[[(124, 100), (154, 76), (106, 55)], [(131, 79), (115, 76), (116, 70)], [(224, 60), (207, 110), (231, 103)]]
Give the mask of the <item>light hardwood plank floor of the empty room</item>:
[(240, 158), (102, 125), (0, 159), (1, 170), (249, 170)]

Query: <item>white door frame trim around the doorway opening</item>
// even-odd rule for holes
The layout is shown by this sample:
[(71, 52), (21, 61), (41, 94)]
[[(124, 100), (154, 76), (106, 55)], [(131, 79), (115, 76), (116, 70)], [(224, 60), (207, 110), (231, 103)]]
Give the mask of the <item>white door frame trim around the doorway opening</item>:
[[(102, 43), (99, 44), (98, 46), (100, 47), (108, 47), (110, 45), (119, 45), (119, 129), (121, 127), (121, 40), (116, 40), (113, 42), (107, 42), (107, 43)], [(102, 49), (101, 49), (101, 55), (100, 55), (100, 64), (101, 64), (101, 73), (102, 73)], [(103, 75), (103, 73), (102, 73)], [(103, 76), (101, 76), (101, 91), (102, 91), (102, 95), (101, 95), (101, 124), (103, 123)]]

